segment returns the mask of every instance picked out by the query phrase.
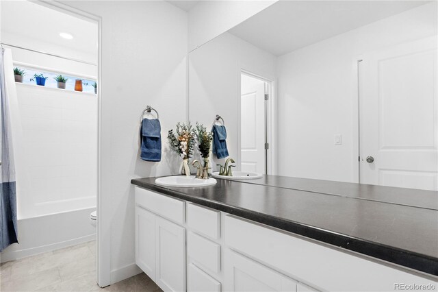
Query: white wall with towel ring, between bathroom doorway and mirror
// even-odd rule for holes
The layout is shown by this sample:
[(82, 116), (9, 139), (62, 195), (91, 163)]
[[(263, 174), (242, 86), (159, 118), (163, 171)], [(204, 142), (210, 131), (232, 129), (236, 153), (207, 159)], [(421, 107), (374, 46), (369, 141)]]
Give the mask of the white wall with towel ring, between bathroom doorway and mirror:
[[(166, 1), (68, 1), (101, 16), (101, 214), (111, 282), (135, 269), (131, 179), (178, 173), (167, 131), (186, 119), (187, 13)], [(162, 162), (138, 153), (139, 119), (153, 106), (162, 123)], [(104, 245), (107, 244), (103, 243)], [(106, 246), (106, 245), (105, 245)]]

